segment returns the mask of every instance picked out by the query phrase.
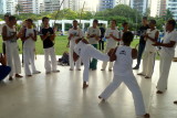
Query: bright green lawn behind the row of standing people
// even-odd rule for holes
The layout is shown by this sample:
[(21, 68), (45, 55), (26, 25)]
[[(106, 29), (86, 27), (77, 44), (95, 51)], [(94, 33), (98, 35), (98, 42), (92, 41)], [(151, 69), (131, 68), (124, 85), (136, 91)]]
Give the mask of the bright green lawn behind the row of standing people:
[[(21, 40), (18, 41), (19, 47), (20, 47), (20, 53), (22, 53), (22, 43)], [(135, 39), (134, 42), (132, 43), (132, 47), (135, 47), (135, 45), (138, 43), (138, 40)], [(63, 52), (69, 51), (67, 45), (67, 36), (56, 36), (55, 39), (55, 52), (56, 55), (62, 55)], [(41, 39), (38, 36), (38, 41), (35, 43), (35, 50), (37, 54), (43, 54), (43, 44)], [(2, 52), (2, 36), (0, 36), (0, 53)]]

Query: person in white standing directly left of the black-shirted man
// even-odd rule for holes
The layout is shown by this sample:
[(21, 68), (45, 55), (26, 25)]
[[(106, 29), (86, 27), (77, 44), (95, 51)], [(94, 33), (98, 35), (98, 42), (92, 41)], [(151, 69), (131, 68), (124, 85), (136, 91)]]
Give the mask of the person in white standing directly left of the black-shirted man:
[[(22, 31), (23, 34), (23, 57), (24, 57), (24, 73), (27, 76), (32, 76), (32, 74), (39, 74), (41, 72), (37, 71), (34, 65), (34, 51), (37, 41), (37, 31), (32, 28), (32, 20), (28, 19), (27, 29)], [(30, 71), (30, 64), (32, 72)]]

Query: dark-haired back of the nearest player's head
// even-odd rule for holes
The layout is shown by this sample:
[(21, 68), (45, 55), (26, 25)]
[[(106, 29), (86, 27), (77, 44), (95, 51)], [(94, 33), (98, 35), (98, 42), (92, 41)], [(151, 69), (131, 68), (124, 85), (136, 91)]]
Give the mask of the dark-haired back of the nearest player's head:
[(129, 31), (124, 32), (124, 34), (123, 34), (123, 42), (124, 43), (129, 44), (133, 40), (134, 40), (134, 34), (132, 32), (129, 32)]

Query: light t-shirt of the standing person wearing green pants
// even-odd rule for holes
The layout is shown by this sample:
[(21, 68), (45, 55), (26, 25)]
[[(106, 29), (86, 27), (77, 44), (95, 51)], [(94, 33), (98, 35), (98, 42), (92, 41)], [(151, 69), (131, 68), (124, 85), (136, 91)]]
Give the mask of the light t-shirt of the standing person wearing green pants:
[[(90, 35), (96, 34), (97, 36), (101, 36), (101, 30), (98, 28), (94, 29), (92, 26), (92, 28), (88, 28), (87, 34)], [(90, 44), (98, 44), (98, 41), (95, 37), (90, 37), (88, 42)]]

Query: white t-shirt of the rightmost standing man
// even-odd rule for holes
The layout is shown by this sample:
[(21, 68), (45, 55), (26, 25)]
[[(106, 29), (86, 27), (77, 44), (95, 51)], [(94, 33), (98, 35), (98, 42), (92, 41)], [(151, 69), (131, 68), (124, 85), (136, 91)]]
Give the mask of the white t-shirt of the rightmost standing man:
[[(177, 32), (175, 30), (171, 32), (165, 33), (163, 43), (169, 43), (170, 41), (174, 41), (177, 43)], [(162, 46), (162, 52), (165, 52), (165, 53), (169, 54), (170, 56), (174, 56), (175, 55), (175, 47), (176, 47), (176, 44), (174, 45), (174, 47)]]

